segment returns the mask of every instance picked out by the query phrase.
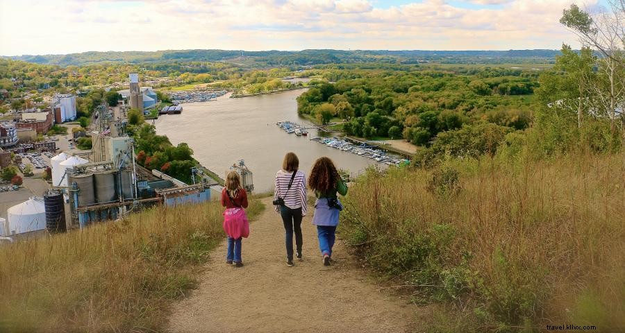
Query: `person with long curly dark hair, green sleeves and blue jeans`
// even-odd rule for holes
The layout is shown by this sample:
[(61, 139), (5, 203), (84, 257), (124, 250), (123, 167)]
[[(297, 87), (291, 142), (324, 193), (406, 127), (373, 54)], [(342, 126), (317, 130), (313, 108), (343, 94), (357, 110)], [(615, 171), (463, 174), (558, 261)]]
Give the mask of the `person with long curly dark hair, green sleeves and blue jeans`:
[(315, 190), (317, 202), (313, 224), (317, 225), (319, 249), (324, 257), (324, 266), (330, 266), (339, 212), (343, 209), (337, 192), (347, 194), (347, 185), (340, 178), (334, 163), (328, 157), (319, 157), (310, 171), (308, 186)]

